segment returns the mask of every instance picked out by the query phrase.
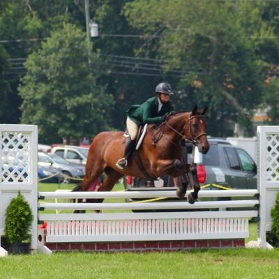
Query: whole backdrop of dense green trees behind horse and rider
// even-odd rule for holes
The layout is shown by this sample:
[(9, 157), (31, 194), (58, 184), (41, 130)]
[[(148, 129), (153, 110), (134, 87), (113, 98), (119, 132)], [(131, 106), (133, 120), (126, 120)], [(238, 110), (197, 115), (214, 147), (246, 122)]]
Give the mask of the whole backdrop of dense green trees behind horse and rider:
[[(64, 24), (71, 23), (85, 38), (84, 1), (1, 1), (0, 38), (8, 40), (1, 45), (12, 59), (29, 55), (28, 60), (33, 62), (27, 62), (29, 68), (23, 86), (30, 84), (30, 93), (24, 93), (24, 100), (22, 92), (17, 92), (22, 75), (6, 75), (4, 84), (0, 84), (0, 97), (4, 97), (0, 103), (0, 122), (18, 123), (22, 114), (24, 123), (38, 123), (40, 141), (45, 143), (83, 134), (92, 137), (99, 130), (124, 128), (125, 110), (152, 96), (156, 84), (166, 81), (176, 89), (172, 99), (177, 110), (192, 110), (196, 104), (209, 105), (207, 122), (211, 135), (232, 135), (235, 121), (250, 128), (252, 112), (262, 102), (271, 107), (271, 123), (278, 123), (276, 102), (271, 98), (277, 99), (278, 95), (277, 70), (270, 75), (273, 84), (264, 84), (268, 70), (279, 63), (277, 1), (96, 0), (90, 1), (89, 13), (98, 23), (100, 33), (93, 39), (92, 50), (96, 55), (92, 57), (91, 78), (86, 75), (89, 71), (85, 63), (72, 63), (66, 48), (70, 50), (75, 43), (69, 43), (63, 31)], [(55, 37), (54, 33), (59, 35)], [(45, 41), (46, 38), (49, 40)], [(86, 45), (73, 47), (73, 53), (76, 62), (86, 61)], [(139, 66), (136, 62), (141, 60), (133, 59), (135, 55), (154, 60)], [(15, 66), (15, 61), (12, 62), (14, 71), (21, 71), (17, 68), (22, 65)], [(68, 62), (72, 65), (69, 68)], [(75, 70), (80, 74), (73, 77), (70, 72)], [(176, 77), (169, 75), (169, 70), (177, 71)], [(36, 87), (37, 80), (40, 90), (31, 86), (33, 82)], [(88, 82), (93, 89), (88, 89)], [(69, 93), (71, 89), (73, 95)], [(81, 98), (77, 98), (78, 91)], [(61, 98), (61, 92), (66, 92), (72, 101)], [(88, 108), (86, 96), (96, 107), (94, 112), (82, 113), (77, 108), (82, 105)], [(45, 105), (48, 98), (63, 103), (61, 110), (66, 107), (66, 117), (61, 115), (58, 101), (53, 108), (50, 103)], [(100, 103), (103, 105), (99, 106)], [(23, 113), (18, 109), (21, 104)], [(96, 116), (96, 121), (88, 119), (89, 114)], [(55, 121), (64, 120), (68, 126), (54, 128)], [(47, 129), (52, 135), (45, 133)]]

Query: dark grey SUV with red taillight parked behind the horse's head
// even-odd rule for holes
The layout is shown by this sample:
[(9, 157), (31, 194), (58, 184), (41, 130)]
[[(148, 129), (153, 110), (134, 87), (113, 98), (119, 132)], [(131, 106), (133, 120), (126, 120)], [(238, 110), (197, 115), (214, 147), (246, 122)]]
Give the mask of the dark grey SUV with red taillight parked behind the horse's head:
[[(213, 138), (209, 138), (209, 144), (208, 153), (199, 153), (201, 162), (197, 164), (197, 176), (201, 186), (220, 185), (233, 189), (257, 188), (257, 166), (244, 149), (226, 140)], [(192, 160), (192, 154), (187, 155), (186, 148), (184, 148), (184, 156), (188, 156), (188, 162)], [(160, 183), (131, 177), (128, 177), (128, 182), (130, 182), (130, 188), (152, 188), (156, 187), (156, 184), (159, 187), (174, 186), (170, 176), (164, 176)]]

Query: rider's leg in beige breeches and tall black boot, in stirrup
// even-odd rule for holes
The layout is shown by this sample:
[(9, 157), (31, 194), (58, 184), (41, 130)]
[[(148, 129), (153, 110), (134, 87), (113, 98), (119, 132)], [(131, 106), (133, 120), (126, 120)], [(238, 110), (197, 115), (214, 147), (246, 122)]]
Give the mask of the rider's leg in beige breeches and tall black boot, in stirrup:
[(130, 154), (135, 149), (135, 139), (137, 137), (137, 130), (138, 126), (137, 124), (132, 121), (129, 117), (127, 117), (127, 129), (130, 135), (130, 139), (126, 141), (125, 151), (124, 151), (124, 157), (117, 161), (116, 167), (119, 169), (125, 169), (128, 165), (128, 158), (130, 157)]

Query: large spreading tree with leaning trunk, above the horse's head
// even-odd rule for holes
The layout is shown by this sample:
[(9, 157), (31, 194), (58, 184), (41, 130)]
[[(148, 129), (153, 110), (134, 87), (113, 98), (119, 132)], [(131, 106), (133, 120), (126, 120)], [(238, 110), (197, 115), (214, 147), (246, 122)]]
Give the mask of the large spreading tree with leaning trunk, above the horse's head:
[(165, 70), (184, 71), (179, 103), (209, 105), (211, 135), (226, 135), (232, 121), (250, 128), (268, 66), (250, 36), (273, 32), (257, 3), (135, 0), (124, 13), (133, 27), (160, 35), (146, 51), (167, 61)]

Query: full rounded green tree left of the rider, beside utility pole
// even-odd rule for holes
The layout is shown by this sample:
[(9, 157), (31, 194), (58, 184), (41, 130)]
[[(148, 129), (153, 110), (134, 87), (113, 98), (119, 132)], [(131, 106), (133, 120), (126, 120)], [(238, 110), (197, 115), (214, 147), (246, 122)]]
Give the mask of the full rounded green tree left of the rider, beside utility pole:
[(31, 54), (19, 88), (22, 123), (39, 126), (40, 142), (93, 137), (110, 128), (110, 94), (96, 86), (98, 55), (90, 56), (85, 33), (64, 24)]

